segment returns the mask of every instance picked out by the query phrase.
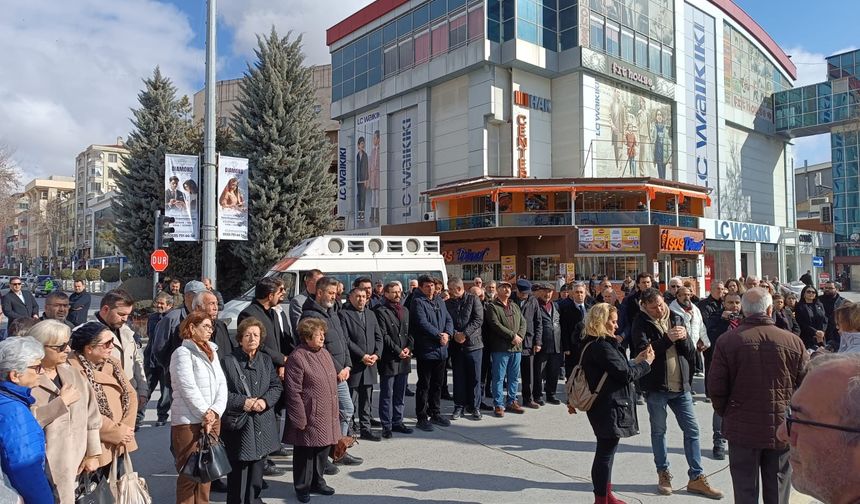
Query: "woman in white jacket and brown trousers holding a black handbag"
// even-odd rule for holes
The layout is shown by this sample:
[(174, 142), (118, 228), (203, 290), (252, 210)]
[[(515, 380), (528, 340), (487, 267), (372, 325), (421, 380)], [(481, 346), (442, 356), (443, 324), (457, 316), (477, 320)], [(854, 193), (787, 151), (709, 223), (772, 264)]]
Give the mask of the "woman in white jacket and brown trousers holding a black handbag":
[[(197, 450), (201, 431), (220, 433), (221, 415), (227, 407), (227, 380), (215, 353), (218, 347), (209, 341), (213, 330), (208, 315), (191, 312), (179, 326), (179, 336), (184, 341), (170, 357), (170, 437), (176, 470), (180, 472)], [(176, 478), (176, 503), (208, 503), (209, 485), (180, 474)]]

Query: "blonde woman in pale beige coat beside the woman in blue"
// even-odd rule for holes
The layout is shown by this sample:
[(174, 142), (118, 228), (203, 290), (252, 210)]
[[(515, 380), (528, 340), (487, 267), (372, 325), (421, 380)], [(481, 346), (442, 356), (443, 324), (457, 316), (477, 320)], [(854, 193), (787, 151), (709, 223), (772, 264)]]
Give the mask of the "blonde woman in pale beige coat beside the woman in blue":
[(33, 388), (36, 420), (45, 429), (47, 472), (57, 502), (75, 502), (76, 476), (99, 467), (102, 417), (95, 392), (68, 364), (69, 327), (43, 320), (27, 333), (42, 344), (44, 373)]

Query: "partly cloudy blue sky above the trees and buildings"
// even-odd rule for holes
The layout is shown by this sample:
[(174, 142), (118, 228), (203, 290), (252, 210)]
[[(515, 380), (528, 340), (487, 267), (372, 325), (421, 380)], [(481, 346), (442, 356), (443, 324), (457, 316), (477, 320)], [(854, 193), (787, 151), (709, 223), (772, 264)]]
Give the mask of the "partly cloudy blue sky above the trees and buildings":
[[(798, 84), (825, 79), (824, 57), (860, 45), (860, 2), (736, 0), (793, 57)], [(254, 60), (274, 26), (303, 37), (306, 62), (329, 62), (325, 30), (370, 0), (218, 0), (218, 79)], [(852, 36), (852, 34), (855, 34)], [(203, 86), (205, 0), (0, 0), (0, 145), (21, 183), (73, 175), (75, 156), (131, 129), (156, 66), (180, 94)], [(829, 160), (829, 139), (797, 141), (797, 158)]]

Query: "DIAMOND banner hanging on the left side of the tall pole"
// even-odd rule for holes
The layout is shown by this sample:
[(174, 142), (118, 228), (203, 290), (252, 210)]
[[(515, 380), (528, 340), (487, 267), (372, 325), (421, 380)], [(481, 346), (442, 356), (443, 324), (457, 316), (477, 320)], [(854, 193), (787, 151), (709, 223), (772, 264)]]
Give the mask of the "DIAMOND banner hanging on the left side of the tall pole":
[(176, 219), (174, 241), (200, 239), (200, 158), (164, 155), (164, 215)]

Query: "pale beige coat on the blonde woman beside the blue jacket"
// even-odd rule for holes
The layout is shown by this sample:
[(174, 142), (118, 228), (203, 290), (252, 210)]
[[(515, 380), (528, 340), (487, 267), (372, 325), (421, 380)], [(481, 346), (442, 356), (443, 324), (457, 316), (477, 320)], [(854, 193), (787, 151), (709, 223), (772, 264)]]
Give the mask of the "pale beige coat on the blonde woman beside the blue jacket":
[(45, 429), (48, 478), (60, 504), (75, 502), (75, 478), (84, 457), (102, 452), (99, 429), (102, 416), (96, 396), (87, 379), (68, 364), (57, 366), (63, 385), (73, 385), (81, 397), (70, 406), (60, 399), (60, 390), (45, 375), (33, 387), (36, 420)]

